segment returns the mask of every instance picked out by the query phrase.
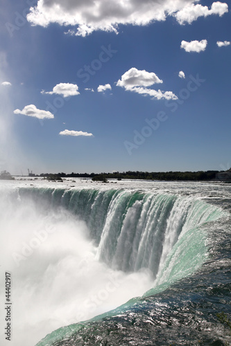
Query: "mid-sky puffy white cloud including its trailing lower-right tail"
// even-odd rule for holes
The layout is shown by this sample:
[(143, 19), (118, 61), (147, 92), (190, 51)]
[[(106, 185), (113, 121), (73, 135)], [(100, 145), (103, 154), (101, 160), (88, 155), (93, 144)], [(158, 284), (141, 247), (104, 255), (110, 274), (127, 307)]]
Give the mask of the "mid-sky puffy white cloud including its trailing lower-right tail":
[(117, 86), (121, 86), (127, 91), (132, 91), (141, 95), (149, 95), (157, 100), (162, 98), (165, 98), (166, 100), (177, 99), (177, 96), (174, 95), (172, 91), (156, 91), (146, 87), (162, 82), (163, 81), (160, 80), (155, 73), (147, 72), (145, 70), (137, 70), (135, 67), (132, 67), (132, 69), (128, 70), (121, 76), (121, 80), (118, 80)]

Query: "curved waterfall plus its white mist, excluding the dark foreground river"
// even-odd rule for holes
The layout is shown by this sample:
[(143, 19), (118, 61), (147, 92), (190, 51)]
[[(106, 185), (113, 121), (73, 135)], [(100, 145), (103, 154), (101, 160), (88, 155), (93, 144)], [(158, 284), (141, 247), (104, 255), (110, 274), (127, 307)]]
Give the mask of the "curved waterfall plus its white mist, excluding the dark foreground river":
[(0, 202), (1, 257), (20, 297), (17, 332), (24, 306), (28, 311), (20, 334), (26, 346), (29, 322), (35, 340), (72, 325), (37, 344), (51, 345), (77, 322), (113, 316), (121, 304), (142, 304), (142, 295), (192, 275), (207, 260), (209, 227), (223, 216), (201, 197), (157, 189), (30, 186), (4, 191)]

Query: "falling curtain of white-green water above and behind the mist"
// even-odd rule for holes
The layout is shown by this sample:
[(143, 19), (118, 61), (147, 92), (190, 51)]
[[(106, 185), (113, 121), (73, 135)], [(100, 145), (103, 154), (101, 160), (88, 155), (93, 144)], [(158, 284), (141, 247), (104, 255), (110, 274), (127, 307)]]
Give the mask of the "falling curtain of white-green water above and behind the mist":
[[(221, 217), (221, 210), (196, 197), (139, 190), (27, 188), (19, 197), (69, 210), (86, 222), (99, 260), (128, 273), (146, 268), (159, 283), (173, 250), (176, 260), (176, 244), (189, 234), (192, 243), (203, 242), (205, 233), (198, 237), (195, 229)], [(192, 258), (191, 264), (195, 268)]]

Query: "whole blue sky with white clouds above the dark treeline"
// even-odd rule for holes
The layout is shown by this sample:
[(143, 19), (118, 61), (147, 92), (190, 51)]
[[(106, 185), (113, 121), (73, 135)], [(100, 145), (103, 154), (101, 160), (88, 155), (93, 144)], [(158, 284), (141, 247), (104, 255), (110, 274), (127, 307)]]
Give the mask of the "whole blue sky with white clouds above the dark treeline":
[(1, 0), (0, 170), (230, 167), (229, 1), (62, 2)]

